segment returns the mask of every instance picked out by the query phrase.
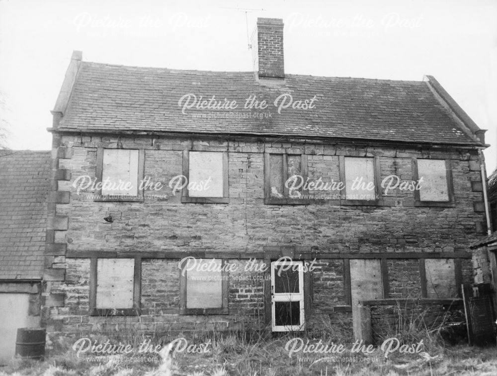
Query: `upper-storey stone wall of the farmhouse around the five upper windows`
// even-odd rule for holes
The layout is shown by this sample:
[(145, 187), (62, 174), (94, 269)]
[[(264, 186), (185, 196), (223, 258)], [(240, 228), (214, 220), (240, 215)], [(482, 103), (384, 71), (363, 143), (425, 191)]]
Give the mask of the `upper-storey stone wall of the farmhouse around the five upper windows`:
[[(146, 193), (166, 195), (145, 202), (95, 202), (85, 189), (76, 194), (72, 183), (81, 175), (95, 176), (96, 146), (115, 147), (117, 139), (68, 137), (62, 139), (69, 158), (59, 159), (59, 169), (71, 179), (59, 181), (59, 191), (70, 191), (70, 202), (57, 204), (57, 215), (70, 217), (67, 230), (55, 229), (56, 243), (68, 250), (219, 251), (260, 252), (263, 246), (297, 244), (327, 252), (452, 252), (465, 250), (477, 239), (484, 213), (477, 155), (456, 152), (430, 153), (450, 158), (455, 207), (414, 207), (412, 191), (383, 194), (383, 206), (339, 206), (325, 202), (303, 205), (264, 205), (263, 153), (287, 149), (308, 152), (309, 177), (338, 179), (338, 155), (378, 155), (381, 178), (396, 174), (412, 180), (412, 158), (426, 157), (417, 150), (324, 146), (312, 144), (242, 143), (211, 141), (209, 150), (229, 151), (230, 204), (182, 204), (171, 195), (168, 181), (182, 174), (184, 149), (206, 150), (207, 141), (134, 139), (123, 147), (145, 148), (145, 176), (165, 188)], [(270, 146), (270, 147), (269, 147)], [(160, 148), (160, 150), (157, 150)], [(310, 193), (316, 193), (310, 191)], [(477, 211), (475, 211), (475, 207)], [(111, 214), (109, 224), (103, 217)], [(277, 231), (274, 231), (277, 229)], [(304, 229), (304, 231), (302, 231)], [(297, 230), (297, 231), (296, 231)]]

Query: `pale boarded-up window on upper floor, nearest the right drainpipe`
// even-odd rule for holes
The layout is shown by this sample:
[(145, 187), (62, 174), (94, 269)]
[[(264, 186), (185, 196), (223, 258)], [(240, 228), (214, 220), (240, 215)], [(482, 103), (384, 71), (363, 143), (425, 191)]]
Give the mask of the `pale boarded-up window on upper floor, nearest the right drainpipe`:
[(418, 159), (417, 177), (421, 201), (449, 201), (447, 169), (442, 159)]

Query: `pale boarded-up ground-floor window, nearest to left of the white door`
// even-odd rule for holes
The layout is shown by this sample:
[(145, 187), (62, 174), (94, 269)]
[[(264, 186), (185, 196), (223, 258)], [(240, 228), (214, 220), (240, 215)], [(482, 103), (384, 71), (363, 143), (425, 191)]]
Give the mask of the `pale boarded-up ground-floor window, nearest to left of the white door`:
[(186, 308), (221, 308), (223, 306), (221, 265), (219, 259), (188, 261)]

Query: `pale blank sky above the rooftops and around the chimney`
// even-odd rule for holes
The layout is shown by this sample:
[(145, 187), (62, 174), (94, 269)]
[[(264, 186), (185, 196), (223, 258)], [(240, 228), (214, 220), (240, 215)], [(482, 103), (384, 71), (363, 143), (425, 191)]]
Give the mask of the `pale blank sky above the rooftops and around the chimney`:
[(0, 116), (11, 149), (49, 150), (73, 50), (83, 61), (251, 71), (257, 17), (283, 18), (285, 72), (434, 76), (482, 129), (497, 167), (497, 1), (0, 0)]

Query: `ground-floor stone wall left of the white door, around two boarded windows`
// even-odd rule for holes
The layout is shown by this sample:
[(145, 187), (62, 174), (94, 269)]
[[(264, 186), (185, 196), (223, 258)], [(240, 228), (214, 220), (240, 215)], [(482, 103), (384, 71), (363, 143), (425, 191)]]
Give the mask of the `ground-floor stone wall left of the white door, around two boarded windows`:
[[(64, 307), (47, 310), (49, 337), (78, 337), (89, 332), (121, 336), (201, 336), (212, 331), (261, 330), (264, 327), (264, 276), (240, 267), (229, 276), (229, 315), (179, 315), (179, 259), (143, 259), (141, 314), (139, 316), (90, 316), (88, 258), (67, 258), (65, 282), (52, 293), (65, 294)], [(239, 263), (240, 260), (229, 260)], [(121, 332), (121, 333), (119, 333)]]

